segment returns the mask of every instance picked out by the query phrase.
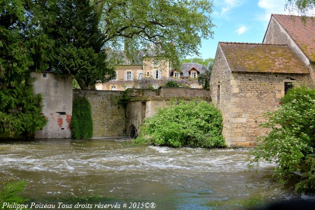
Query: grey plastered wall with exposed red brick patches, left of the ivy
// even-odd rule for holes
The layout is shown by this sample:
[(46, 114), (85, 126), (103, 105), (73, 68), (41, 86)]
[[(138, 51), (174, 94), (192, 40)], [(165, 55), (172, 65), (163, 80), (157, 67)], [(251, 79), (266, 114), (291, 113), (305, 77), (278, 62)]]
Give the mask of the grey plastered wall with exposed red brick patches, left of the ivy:
[(54, 74), (32, 72), (34, 94), (43, 98), (43, 115), (47, 125), (35, 132), (35, 138), (71, 138), (72, 79)]

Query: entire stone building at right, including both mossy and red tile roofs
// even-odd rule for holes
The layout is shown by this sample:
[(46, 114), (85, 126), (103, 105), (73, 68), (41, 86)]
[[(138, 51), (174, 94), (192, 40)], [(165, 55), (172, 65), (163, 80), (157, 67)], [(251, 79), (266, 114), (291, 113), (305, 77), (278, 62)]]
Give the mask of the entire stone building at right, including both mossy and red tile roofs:
[(309, 41), (315, 40), (315, 28), (305, 29), (313, 24), (272, 15), (262, 44), (219, 42), (210, 94), (221, 109), (228, 146), (248, 146), (264, 135), (259, 127), (264, 114), (279, 108), (293, 84), (315, 87), (315, 42)]

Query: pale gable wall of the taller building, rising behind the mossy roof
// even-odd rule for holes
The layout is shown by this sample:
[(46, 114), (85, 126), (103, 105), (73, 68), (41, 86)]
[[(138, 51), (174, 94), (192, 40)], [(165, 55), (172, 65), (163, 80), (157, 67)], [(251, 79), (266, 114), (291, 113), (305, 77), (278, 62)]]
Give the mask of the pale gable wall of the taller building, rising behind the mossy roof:
[(315, 64), (304, 55), (294, 40), (288, 35), (278, 21), (272, 17), (266, 31), (263, 43), (265, 44), (286, 44), (290, 50), (308, 67), (312, 79), (311, 87), (315, 87)]

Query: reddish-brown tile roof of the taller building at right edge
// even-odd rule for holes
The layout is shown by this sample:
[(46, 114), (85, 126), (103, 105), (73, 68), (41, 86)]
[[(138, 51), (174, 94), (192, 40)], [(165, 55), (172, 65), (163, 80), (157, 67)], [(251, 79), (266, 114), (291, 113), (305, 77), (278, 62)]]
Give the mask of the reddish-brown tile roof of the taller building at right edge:
[(315, 17), (306, 17), (305, 23), (301, 16), (278, 15), (272, 16), (279, 22), (303, 53), (315, 62)]

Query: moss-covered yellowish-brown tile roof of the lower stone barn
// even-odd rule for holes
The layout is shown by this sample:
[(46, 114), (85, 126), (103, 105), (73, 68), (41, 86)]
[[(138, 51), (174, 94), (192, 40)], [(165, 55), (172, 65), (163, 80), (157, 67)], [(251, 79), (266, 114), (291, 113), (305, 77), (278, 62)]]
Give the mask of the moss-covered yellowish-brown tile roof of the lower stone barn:
[(219, 43), (232, 71), (310, 73), (286, 45)]

